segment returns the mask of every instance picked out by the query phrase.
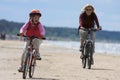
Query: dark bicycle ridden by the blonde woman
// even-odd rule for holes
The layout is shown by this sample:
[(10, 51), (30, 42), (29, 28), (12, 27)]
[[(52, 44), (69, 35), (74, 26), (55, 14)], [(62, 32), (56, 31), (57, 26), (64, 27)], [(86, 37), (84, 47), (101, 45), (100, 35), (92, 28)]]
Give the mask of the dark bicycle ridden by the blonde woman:
[(84, 42), (83, 50), (82, 50), (82, 67), (85, 68), (86, 64), (88, 66), (88, 69), (91, 69), (91, 65), (93, 64), (93, 53), (94, 53), (94, 42), (91, 37), (91, 32), (98, 31), (97, 29), (84, 29), (84, 31), (87, 31), (87, 38)]

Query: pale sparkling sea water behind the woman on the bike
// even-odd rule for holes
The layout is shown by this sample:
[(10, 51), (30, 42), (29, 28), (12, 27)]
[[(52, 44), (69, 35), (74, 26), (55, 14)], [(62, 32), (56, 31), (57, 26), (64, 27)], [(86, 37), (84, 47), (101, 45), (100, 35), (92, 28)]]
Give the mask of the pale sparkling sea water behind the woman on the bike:
[[(49, 41), (49, 44), (74, 49), (79, 51), (80, 42), (77, 41)], [(102, 54), (119, 54), (120, 43), (115, 42), (96, 42), (95, 52)]]

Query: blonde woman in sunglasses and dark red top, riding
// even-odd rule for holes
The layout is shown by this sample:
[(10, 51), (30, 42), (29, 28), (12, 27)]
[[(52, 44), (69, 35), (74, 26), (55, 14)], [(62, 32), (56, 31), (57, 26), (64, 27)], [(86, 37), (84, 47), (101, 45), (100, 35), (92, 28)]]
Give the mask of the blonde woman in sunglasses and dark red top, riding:
[[(85, 7), (83, 7), (83, 11), (79, 17), (79, 33), (81, 37), (80, 51), (83, 51), (84, 41), (86, 40), (88, 33), (87, 31), (84, 31), (84, 29), (95, 28), (95, 24), (97, 25), (97, 30), (100, 30), (101, 27), (99, 25), (98, 18), (94, 12), (94, 7), (90, 4), (87, 4), (85, 5)], [(92, 32), (91, 36), (93, 42), (95, 42), (95, 33)]]

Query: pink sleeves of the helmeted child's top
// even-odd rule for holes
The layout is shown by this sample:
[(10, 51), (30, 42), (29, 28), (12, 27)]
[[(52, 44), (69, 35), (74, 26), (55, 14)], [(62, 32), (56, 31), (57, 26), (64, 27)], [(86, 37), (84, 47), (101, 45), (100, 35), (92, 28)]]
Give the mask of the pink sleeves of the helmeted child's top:
[[(29, 22), (25, 23), (25, 24), (21, 27), (20, 33), (26, 33), (26, 30), (27, 30), (28, 26), (29, 26)], [(41, 34), (42, 36), (45, 36), (45, 33), (46, 33), (46, 32), (45, 32), (45, 29), (44, 29), (44, 27), (43, 27), (43, 25), (42, 25), (41, 23), (39, 23), (38, 28), (39, 28), (40, 34)]]

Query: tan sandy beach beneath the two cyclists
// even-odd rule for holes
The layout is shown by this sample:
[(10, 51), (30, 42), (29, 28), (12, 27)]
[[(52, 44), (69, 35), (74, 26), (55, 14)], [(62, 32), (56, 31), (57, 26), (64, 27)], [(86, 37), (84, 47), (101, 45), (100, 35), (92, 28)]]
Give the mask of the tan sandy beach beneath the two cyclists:
[[(0, 80), (23, 80), (17, 71), (23, 52), (23, 41), (0, 40)], [(92, 69), (83, 69), (80, 52), (43, 41), (42, 60), (37, 61), (33, 79), (26, 80), (120, 80), (120, 56), (94, 54)]]

